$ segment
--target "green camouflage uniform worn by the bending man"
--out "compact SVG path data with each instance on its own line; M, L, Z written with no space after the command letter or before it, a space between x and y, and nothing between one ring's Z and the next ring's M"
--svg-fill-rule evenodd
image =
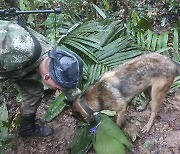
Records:
M37 111L43 96L43 84L41 76L37 73L37 68L42 59L47 56L47 52L53 49L53 45L44 36L32 29L29 30L39 40L42 53L34 64L21 68L21 64L24 64L34 51L33 40L29 32L19 26L16 21L0 20L0 79L13 82L20 92L22 96L22 115L33 114ZM1 72L1 70L8 72L14 69L16 71L11 75L8 73L4 75ZM70 92L67 92L67 97L70 100L73 100L79 94L76 89L70 90Z

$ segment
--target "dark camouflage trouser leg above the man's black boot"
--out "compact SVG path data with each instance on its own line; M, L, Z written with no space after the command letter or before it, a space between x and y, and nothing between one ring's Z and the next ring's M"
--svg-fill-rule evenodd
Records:
M42 82L38 80L16 81L15 87L22 97L21 114L35 114L42 101L44 91Z

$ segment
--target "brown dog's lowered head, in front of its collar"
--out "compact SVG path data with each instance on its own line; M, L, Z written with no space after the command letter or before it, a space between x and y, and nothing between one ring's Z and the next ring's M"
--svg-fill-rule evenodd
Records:
M89 108L83 96L74 101L73 115L87 123L94 121L94 111Z

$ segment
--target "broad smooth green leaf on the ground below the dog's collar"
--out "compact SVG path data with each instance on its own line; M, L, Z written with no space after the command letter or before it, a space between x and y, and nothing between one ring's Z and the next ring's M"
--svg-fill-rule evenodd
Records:
M131 143L120 128L106 115L96 117L97 128L93 137L93 146L97 154L126 154Z

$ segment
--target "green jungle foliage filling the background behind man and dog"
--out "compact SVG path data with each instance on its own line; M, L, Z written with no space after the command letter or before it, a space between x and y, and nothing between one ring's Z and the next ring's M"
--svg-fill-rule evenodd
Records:
M104 72L147 52L159 52L180 61L178 0L129 1L128 11L125 10L127 4L118 0L19 0L18 3L2 0L0 4L1 9L15 6L20 10L62 7L59 15L31 14L24 19L58 47L81 56L84 61L82 91ZM159 12L159 7L166 11ZM180 77L177 77L172 90L179 86ZM62 97L56 101L63 102ZM53 111L53 118L64 108L60 103L58 110L54 110L56 101L49 110ZM4 105L0 112L8 113ZM52 120L52 112L48 112L46 118ZM0 119L1 149L8 138L7 120L8 116Z

